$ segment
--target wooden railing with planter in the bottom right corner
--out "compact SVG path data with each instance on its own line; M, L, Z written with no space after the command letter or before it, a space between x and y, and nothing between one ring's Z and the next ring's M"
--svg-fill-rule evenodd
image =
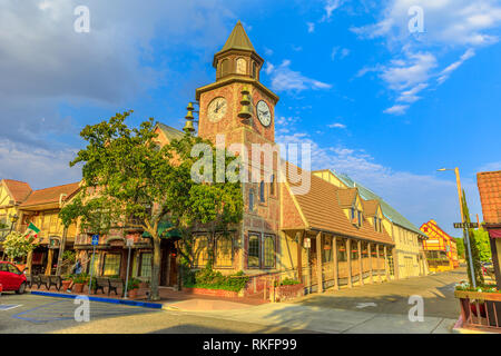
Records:
M463 327L501 333L501 293L455 290Z

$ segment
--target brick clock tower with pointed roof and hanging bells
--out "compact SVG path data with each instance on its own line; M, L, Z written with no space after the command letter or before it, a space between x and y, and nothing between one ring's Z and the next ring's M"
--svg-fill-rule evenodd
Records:
M242 182L244 219L233 237L233 268L248 274L273 273L281 264L276 179L279 157L269 148L275 147L278 97L259 81L263 65L264 59L238 21L223 49L214 56L216 81L196 90L198 136L213 142L216 136L224 136L226 147L242 144L248 151L249 181ZM272 151L272 165L264 165L261 154L258 162L253 161L255 144L262 145L261 150L265 147L263 151ZM258 167L257 180L250 177L253 166Z

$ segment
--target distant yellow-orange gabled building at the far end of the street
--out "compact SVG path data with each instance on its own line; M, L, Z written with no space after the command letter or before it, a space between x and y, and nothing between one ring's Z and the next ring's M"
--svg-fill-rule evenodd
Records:
M443 271L458 268L458 246L454 238L442 230L435 220L423 224L420 229L430 237L424 241L430 270Z

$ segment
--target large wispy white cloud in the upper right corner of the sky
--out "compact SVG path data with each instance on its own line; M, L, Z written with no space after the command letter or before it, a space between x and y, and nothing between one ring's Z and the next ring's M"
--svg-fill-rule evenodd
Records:
M409 14L413 6L424 14L424 33L411 33ZM443 83L475 49L495 43L501 30L501 3L499 0L392 0L376 13L376 22L352 28L363 38L383 38L393 56L387 65L366 66L358 77L376 71L385 85L396 93L396 102L385 110L402 115L411 103L421 99L416 92ZM461 58L444 69L440 58L451 51L464 50ZM415 92L413 92L415 91Z

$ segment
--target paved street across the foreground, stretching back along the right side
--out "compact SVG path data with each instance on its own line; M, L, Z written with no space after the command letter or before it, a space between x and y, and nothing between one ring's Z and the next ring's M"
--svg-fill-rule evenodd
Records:
M249 306L228 301L224 309L225 301L218 300L222 309L207 312L194 308L196 300L177 303L175 310L91 301L89 323L75 322L78 306L71 299L3 295L0 303L10 309L0 309L0 333L450 333L460 313L454 285L464 278L465 270L460 268L313 294L294 303ZM409 320L411 295L424 299L422 323Z

